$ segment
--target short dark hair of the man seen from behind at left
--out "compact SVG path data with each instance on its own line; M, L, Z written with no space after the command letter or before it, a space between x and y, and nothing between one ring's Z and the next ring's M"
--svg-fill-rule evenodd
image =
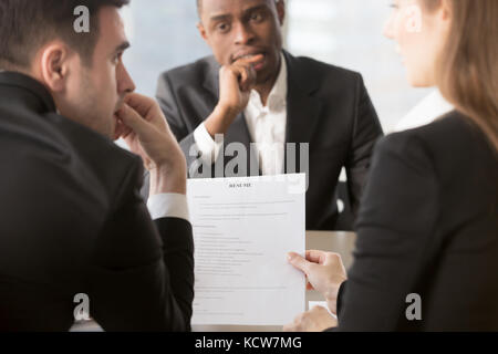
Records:
M30 66L37 51L61 39L87 65L98 39L98 10L122 8L129 0L0 0L0 69ZM90 11L90 32L76 33L74 9Z

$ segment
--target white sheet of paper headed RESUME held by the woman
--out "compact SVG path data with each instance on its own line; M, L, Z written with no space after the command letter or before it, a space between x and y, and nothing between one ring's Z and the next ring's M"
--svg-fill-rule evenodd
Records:
M194 325L283 325L305 311L305 175L189 179Z

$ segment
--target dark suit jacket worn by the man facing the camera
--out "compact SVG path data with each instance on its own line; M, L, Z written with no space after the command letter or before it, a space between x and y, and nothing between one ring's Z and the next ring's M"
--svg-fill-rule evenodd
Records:
M335 229L335 189L341 169L344 166L347 171L349 196L355 214L382 127L360 74L309 58L294 58L287 52L284 58L289 87L286 140L310 144L307 228ZM159 77L157 100L180 142L188 166L198 157L189 155L195 144L194 131L218 103L219 67L209 56ZM251 136L243 114L225 135L225 146L235 142L242 143L250 152ZM300 148L297 150L299 153ZM222 155L220 153L219 158ZM287 168L287 173L305 171L299 169L299 154L297 157L298 170ZM225 157L222 165L232 158ZM247 171L250 170L248 159Z

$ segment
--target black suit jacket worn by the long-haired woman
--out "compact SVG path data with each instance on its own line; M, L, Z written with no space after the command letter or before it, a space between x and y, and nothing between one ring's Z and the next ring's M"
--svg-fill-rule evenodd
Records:
M498 331L498 155L468 122L453 112L378 144L339 330Z

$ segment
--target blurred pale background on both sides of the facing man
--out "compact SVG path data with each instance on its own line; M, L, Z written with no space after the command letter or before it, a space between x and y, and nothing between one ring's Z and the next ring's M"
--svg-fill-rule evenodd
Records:
M292 54L362 73L384 129L392 132L430 91L408 86L394 43L382 34L388 4L287 0L284 34ZM154 96L159 73L210 54L196 28L195 0L135 0L123 17L132 42L124 61L141 93Z

